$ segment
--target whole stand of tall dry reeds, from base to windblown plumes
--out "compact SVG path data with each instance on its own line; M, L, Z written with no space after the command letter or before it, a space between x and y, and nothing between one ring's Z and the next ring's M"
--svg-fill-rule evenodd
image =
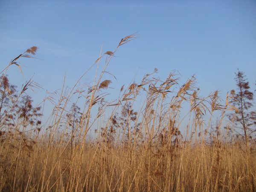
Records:
M6 76L36 50L1 72L0 191L255 191L255 123L245 140L234 91L225 99L218 91L201 97L194 76L181 86L175 71L160 80L155 69L105 101L115 78L104 79L116 52L108 51L93 64L93 84L79 86L81 77L69 91L49 93L44 102L52 103L52 113L41 122L41 107L26 94L38 84L29 80L18 93Z

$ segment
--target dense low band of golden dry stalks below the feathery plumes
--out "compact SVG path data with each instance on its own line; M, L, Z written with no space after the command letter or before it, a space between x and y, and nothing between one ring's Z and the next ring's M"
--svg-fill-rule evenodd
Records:
M70 160L58 145L24 148L18 161L12 145L3 147L1 190L12 191L14 177L20 191L251 191L255 185L244 151L237 146L153 150L86 143ZM251 175L254 162L253 154Z

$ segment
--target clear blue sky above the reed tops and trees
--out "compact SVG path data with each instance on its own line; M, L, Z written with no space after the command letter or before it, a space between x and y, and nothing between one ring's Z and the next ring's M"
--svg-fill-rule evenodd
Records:
M177 70L181 85L195 74L201 96L215 90L225 96L236 88L239 68L256 89L255 0L0 0L0 68L39 47L40 59L20 60L24 76L15 66L8 71L19 88L31 77L41 84L37 102L62 87L65 72L72 87L102 44L103 53L113 51L135 32L140 38L119 47L107 69L117 79L106 76L112 87L128 86L138 70L139 83L157 68L161 79Z

